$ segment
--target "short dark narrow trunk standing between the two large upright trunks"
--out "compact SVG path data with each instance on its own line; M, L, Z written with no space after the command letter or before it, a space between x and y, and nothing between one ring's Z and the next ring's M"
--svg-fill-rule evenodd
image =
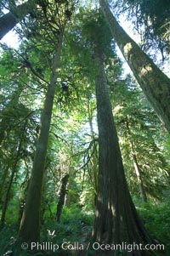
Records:
M63 179L61 180L61 188L59 191L59 202L57 205L57 213L56 213L57 222L60 221L61 211L65 204L65 195L67 191L66 186L68 183L68 179L69 179L69 174L66 174L65 177L63 177Z

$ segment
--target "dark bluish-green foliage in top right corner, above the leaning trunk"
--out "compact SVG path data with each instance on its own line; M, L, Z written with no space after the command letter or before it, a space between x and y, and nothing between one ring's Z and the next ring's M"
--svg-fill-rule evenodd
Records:
M126 4L127 3L127 4ZM155 48L160 49L162 60L169 48L169 12L170 3L168 0L132 0L124 1L122 9L128 7L130 19L134 19L135 28L142 29L142 44L144 50ZM143 29L143 28L144 29Z

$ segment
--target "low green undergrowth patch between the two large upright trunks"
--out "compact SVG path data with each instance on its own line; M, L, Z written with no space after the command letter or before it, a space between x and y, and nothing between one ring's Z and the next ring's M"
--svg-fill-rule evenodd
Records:
M71 205L70 208L63 208L60 222L56 220L47 219L42 229L42 242L52 241L61 245L63 242L81 242L83 236L83 226L87 226L89 235L92 231L94 223L94 213L83 213L82 209L77 203ZM54 232L54 237L51 238L48 230ZM90 236L89 236L90 239ZM56 254L61 253L62 249L57 251ZM71 252L65 251L65 255L70 255ZM47 254L48 255L48 254Z

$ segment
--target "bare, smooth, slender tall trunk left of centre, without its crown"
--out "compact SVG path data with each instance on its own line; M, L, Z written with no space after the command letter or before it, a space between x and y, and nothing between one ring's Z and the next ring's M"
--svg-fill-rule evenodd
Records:
M56 38L57 40L57 38ZM48 146L48 134L56 92L57 70L62 48L63 35L59 37L50 77L50 84L46 94L41 118L40 135L37 139L37 149L33 162L31 180L26 198L26 208L20 222L20 240L35 242L40 236L40 213L42 203L42 186L44 178L45 160Z

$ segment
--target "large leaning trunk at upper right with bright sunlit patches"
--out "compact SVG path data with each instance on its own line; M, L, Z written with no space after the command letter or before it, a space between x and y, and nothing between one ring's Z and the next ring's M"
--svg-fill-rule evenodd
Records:
M122 29L111 13L107 0L99 0L112 36L127 60L150 105L170 133L170 79L153 63L150 57Z

